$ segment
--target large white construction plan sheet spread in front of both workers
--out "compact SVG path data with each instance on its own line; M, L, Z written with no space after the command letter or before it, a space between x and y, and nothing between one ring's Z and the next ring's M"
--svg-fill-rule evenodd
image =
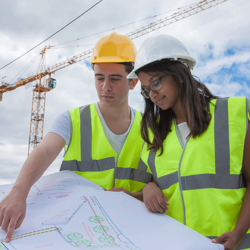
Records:
M0 186L0 200L10 188ZM0 229L0 250L224 249L169 216L148 212L129 195L104 191L70 171L35 183L22 226L9 243L5 235Z

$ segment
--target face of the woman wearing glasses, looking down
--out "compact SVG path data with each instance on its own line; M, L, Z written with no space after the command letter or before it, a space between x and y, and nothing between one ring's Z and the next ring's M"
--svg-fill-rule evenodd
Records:
M142 88L149 91L149 97L155 105L160 107L162 110L169 108L174 110L177 102L179 101L180 89L172 76L164 76L164 73L162 72L140 72L138 77ZM157 81L159 78L161 78L160 82ZM162 85L160 90L156 91L151 89L159 88L159 84Z

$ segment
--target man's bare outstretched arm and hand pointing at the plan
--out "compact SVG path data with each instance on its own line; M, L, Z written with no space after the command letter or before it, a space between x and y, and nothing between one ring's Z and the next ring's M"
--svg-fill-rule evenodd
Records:
M64 139L48 133L25 161L10 193L0 203L0 227L9 242L20 227L26 213L26 198L32 185L42 176L65 145Z

